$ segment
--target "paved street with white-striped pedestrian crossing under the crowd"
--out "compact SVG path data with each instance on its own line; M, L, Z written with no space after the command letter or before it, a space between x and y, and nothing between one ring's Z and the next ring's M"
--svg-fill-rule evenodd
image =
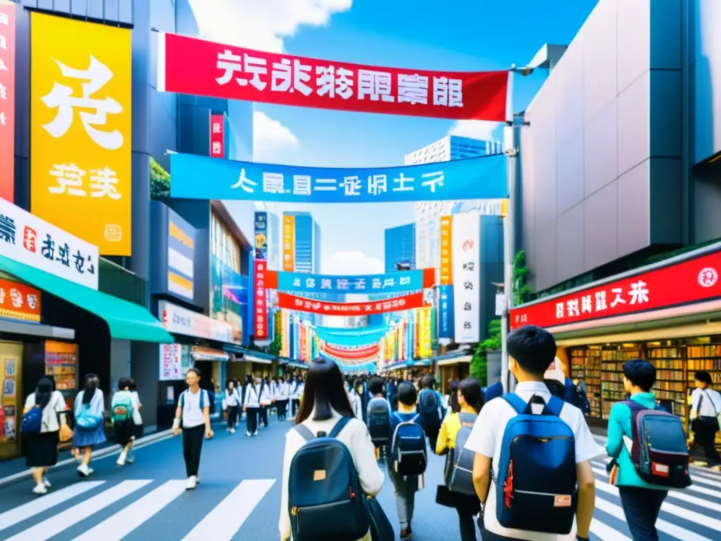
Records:
M30 492L30 481L0 489L0 540L278 540L278 506L283 436L290 423L271 423L247 439L218 431L206 442L201 483L185 492L180 439L151 444L137 462L115 467L114 458L94 462L95 474L80 480L67 467L51 471L46 496ZM595 463L596 520L593 537L627 541L629 532L616 489L607 483L603 462ZM426 488L417 496L416 541L458 540L455 512L435 504L443 457L431 457ZM658 522L662 540L718 540L721 532L721 475L694 468L694 485L671 494ZM392 487L379 496L396 522Z

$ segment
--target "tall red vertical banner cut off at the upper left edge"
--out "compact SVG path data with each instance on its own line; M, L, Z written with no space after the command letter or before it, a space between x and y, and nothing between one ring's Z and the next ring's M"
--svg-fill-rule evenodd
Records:
M0 0L0 198L15 197L15 4Z

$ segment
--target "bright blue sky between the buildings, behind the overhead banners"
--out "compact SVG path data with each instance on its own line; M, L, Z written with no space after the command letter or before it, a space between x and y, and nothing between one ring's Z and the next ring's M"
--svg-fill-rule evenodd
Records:
M231 24L222 17L203 17L196 8L201 32L213 40L298 56L446 71L523 66L544 43L570 43L596 5L596 0L192 1L196 6L203 2L203 11L216 15L217 9L234 12L227 18ZM244 21L241 27L238 20ZM543 74L516 77L515 110L528 105L543 79ZM256 123L255 161L318 167L399 165L404 154L456 127L452 120L278 105L256 104L255 110L262 121L261 126ZM267 138L259 128L267 128L262 131L270 132ZM461 128L492 132L485 125ZM492 136L502 139L500 131ZM292 209L314 214L323 230L324 266L333 271L337 260L344 259L338 252L361 252L382 262L384 229L414 219L410 203ZM356 261L357 256L345 259ZM330 260L335 263L326 264Z

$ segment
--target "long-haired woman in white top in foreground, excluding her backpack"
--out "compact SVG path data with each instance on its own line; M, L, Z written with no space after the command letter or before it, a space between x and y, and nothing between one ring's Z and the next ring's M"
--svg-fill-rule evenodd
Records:
M368 428L363 421L355 418L348 402L348 393L343 386L340 369L333 361L316 359L306 374L307 387L301 400L301 410L296 424L302 424L313 434L330 432L342 417L352 418L337 435L337 440L348 447L353 464L358 470L363 492L376 496L383 486L384 476L376 461L376 449L373 447ZM288 513L288 479L291 462L306 440L296 430L286 434L286 452L283 456L283 492L280 498L280 539L291 539L291 516ZM363 541L370 541L370 532Z

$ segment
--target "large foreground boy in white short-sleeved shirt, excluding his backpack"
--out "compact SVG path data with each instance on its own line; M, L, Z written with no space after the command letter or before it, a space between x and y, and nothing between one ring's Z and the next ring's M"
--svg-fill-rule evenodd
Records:
M544 384L544 373L556 356L556 341L547 330L528 325L508 335L508 369L518 380L515 394L528 403L531 397L542 399L548 404L551 393ZM544 405L532 406L533 413L540 413ZM483 504L484 513L481 534L483 541L533 540L557 541L562 536L525 529L510 529L500 525L497 518L496 487L492 483L499 472L499 459L503 433L512 418L518 413L503 397L487 403L474 423L473 431L466 441L466 449L476 453L473 465L473 482L476 493ZM576 477L578 504L576 508L576 539L588 540L593 509L596 506L596 480L590 459L605 454L593 439L581 410L564 403L559 418L571 429L575 439Z

